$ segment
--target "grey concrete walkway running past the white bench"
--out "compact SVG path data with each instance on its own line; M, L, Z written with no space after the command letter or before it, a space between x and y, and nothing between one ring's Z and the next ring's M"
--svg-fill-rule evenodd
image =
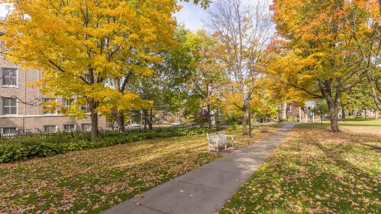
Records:
M102 213L216 213L277 149L295 124L286 123L258 143L238 149Z

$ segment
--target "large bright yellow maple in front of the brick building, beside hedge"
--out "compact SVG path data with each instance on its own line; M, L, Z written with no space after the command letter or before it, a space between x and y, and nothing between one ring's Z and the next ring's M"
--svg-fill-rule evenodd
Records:
M47 96L75 97L66 115L85 117L78 106L88 104L92 141L97 140L100 112L128 108L137 98L107 82L130 70L145 72L147 67L137 68L135 62L155 61L152 51L171 39L176 25L174 1L2 2L13 5L0 24L8 58L42 70L37 86Z

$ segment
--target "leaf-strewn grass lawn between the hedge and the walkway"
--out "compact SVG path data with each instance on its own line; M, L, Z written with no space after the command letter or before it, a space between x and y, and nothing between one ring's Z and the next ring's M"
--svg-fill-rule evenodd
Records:
M272 125L270 132L274 131ZM242 130L235 146L252 141ZM98 213L215 160L205 134L119 144L0 164L0 213Z

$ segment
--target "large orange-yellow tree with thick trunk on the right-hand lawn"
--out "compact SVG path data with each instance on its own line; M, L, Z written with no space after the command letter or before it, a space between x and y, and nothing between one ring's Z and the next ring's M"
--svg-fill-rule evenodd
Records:
M274 63L289 87L310 98L324 98L332 132L339 132L341 95L362 81L358 56L345 17L344 1L275 0L272 5L277 32L286 39L283 57Z

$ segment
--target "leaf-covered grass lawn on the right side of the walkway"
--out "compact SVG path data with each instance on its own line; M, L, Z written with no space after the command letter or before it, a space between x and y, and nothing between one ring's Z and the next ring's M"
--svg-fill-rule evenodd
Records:
M220 213L381 213L381 120L297 125Z

